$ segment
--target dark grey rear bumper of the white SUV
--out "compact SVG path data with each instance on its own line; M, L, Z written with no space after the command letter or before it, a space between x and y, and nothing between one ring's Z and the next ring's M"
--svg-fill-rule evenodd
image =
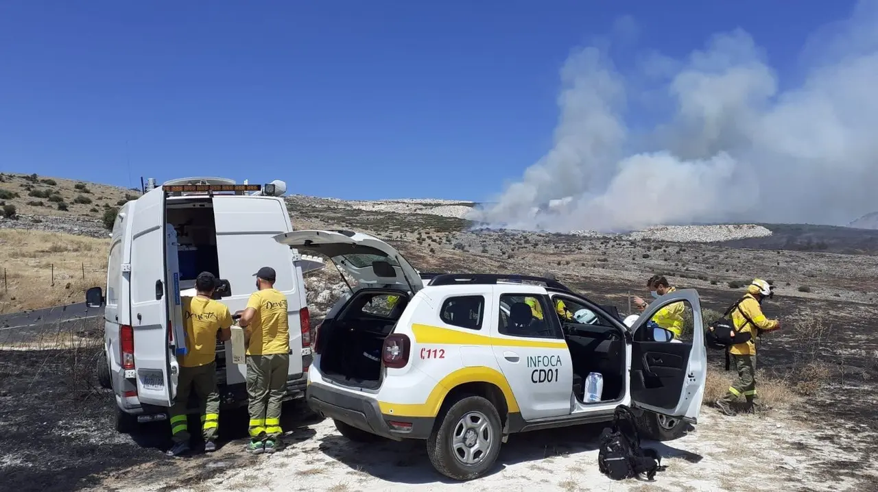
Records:
M397 417L384 415L378 401L368 396L353 395L320 383L312 382L307 387L306 402L311 410L323 417L340 420L361 431L393 439L427 439L433 431L432 417ZM411 424L411 429L400 431L389 422Z

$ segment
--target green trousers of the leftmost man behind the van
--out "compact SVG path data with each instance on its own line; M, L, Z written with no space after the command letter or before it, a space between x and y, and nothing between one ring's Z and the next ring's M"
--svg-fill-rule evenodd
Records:
M217 391L216 363L198 367L180 367L176 383L174 406L170 408L170 429L174 442L188 442L186 407L189 395L195 391L201 407L201 429L205 441L216 439L219 430L219 392Z

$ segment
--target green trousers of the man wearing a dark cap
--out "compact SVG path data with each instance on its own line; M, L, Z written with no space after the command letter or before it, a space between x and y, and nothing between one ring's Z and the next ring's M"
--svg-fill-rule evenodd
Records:
M289 368L288 353L247 356L250 439L277 439L284 433L280 427L280 409Z

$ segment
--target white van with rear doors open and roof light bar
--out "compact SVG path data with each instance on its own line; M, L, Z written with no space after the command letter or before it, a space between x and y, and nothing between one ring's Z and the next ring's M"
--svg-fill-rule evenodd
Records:
M275 269L275 288L289 305L291 353L301 353L290 360L287 398L304 396L311 332L302 272L303 265L308 269L315 263L301 261L296 250L273 239L292 231L280 197L285 188L278 181L263 187L224 178L184 178L149 189L119 210L106 294L99 287L86 293L89 307L105 306L106 358L98 379L116 394L117 430L167 418L176 396L176 353L183 345L175 337L182 321L177 303L202 271L221 280L215 298L234 313L246 307L255 291L256 270ZM231 342L218 342L217 381L224 408L247 403L246 366L232 364L231 353Z

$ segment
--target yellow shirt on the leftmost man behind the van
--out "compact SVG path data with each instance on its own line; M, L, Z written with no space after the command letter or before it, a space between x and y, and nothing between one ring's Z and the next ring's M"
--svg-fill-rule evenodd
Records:
M232 325L232 313L225 305L205 297L185 296L181 300L188 353L181 358L180 365L210 364L216 358L217 332Z

